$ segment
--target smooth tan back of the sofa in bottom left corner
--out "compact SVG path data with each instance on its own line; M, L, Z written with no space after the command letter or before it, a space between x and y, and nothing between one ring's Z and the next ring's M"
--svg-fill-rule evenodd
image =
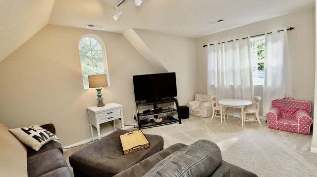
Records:
M27 176L26 147L1 123L0 158L0 177Z

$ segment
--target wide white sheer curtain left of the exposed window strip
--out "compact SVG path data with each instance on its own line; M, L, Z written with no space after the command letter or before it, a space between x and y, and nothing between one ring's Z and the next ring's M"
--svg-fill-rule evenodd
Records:
M252 100L252 64L250 38L208 45L208 88L209 95L221 99Z

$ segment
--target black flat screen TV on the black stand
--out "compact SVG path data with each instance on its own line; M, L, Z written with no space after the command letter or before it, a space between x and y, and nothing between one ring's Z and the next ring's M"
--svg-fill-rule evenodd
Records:
M175 72L133 75L135 101L157 101L177 97Z

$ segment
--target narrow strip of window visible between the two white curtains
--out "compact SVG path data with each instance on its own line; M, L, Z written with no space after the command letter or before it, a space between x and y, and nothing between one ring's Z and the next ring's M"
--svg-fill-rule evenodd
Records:
M251 38L251 60L253 85L264 85L264 57L265 57L265 37Z

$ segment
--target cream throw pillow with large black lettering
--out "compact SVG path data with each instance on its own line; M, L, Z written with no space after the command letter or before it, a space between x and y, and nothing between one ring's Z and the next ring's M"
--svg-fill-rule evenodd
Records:
M23 144L38 151L44 144L58 138L48 130L45 130L39 125L30 127L22 127L9 129L9 131Z

